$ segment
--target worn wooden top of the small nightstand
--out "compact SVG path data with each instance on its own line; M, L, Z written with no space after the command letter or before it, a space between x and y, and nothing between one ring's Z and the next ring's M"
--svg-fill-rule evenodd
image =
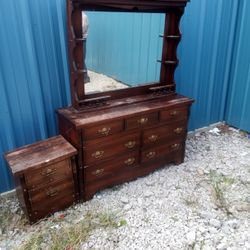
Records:
M76 154L77 150L62 136L55 136L7 152L5 159L12 173L17 174L29 168L48 165Z

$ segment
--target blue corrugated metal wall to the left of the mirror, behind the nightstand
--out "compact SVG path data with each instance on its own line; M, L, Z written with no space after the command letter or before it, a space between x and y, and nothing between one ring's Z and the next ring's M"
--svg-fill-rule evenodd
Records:
M65 1L0 3L0 192L12 187L2 152L57 133L69 103Z

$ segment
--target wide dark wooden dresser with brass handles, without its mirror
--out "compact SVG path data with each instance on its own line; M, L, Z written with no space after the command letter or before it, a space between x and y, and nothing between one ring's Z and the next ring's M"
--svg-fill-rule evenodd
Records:
M182 163L191 103L176 95L92 112L58 110L60 133L78 150L81 197Z

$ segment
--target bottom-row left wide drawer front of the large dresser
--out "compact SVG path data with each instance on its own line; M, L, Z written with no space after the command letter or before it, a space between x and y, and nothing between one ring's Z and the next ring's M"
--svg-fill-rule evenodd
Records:
M97 165L92 165L84 169L85 183L90 183L100 179L110 178L117 172L133 168L139 163L139 152L130 153L125 156L105 161Z

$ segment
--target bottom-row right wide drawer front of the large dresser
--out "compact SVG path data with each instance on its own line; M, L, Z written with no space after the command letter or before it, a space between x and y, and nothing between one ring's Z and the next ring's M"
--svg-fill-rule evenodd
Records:
M148 150L143 150L141 155L141 162L151 161L161 158L164 155L182 149L182 141L174 141L168 145L162 145Z

